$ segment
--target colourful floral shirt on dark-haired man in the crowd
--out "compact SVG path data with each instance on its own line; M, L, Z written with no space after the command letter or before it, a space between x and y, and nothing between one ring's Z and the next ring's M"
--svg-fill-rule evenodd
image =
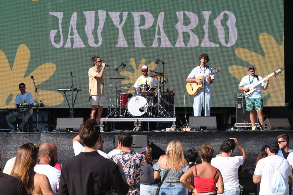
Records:
M120 151L120 153L112 156L112 160L119 166L121 163L127 183L129 185L129 195L139 194L140 177L143 166L143 156L140 153L131 151ZM120 166L121 166L120 165ZM116 194L114 190L111 194Z

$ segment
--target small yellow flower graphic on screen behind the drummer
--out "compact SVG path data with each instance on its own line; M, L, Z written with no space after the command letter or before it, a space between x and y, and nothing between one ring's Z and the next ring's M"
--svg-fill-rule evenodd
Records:
M131 73L127 70L122 70L121 71L121 75L124 76L124 77L128 77L129 79L124 79L122 81L122 84L125 84L125 85L130 85L130 86L133 86L135 81L137 80L138 77L140 77L142 75L142 66L145 65L146 63L146 59L145 58L142 58L142 60L140 61L139 63L139 66L137 67L135 61L133 58L130 58L129 59L129 62L130 62L130 65L133 67L134 69L134 73ZM149 70L154 70L156 67L157 67L157 64L154 63L154 61L152 61L151 63L149 63L149 65L147 65ZM132 91L129 91L130 93Z

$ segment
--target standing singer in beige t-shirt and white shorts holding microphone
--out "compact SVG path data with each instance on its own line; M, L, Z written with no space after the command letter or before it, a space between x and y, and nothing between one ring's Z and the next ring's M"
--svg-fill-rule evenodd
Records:
M93 67L88 70L88 88L91 98L91 118L96 119L100 124L103 107L105 105L105 89L103 73L105 71L105 63L99 56L91 57ZM100 70L100 67L101 70ZM108 66L109 67L109 66ZM98 108L98 113L96 113Z

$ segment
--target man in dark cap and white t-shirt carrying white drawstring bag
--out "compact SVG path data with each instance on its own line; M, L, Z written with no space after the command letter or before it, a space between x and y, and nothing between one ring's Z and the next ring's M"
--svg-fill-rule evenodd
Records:
M290 166L285 158L277 156L279 151L277 139L267 139L264 147L268 156L258 161L252 177L255 184L260 182L259 195L270 194L269 190L273 189L271 182L277 170L281 173L281 179L283 180L282 182L285 183L285 186L282 186L282 182L278 182L279 184L274 187L278 187L281 190L285 189L282 194L289 195L289 184L287 179L290 174Z

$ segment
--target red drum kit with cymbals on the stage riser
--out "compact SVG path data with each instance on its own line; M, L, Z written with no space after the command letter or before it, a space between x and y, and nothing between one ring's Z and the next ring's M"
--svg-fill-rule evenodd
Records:
M120 89L124 89L124 91L121 92L120 89L117 90L115 108L112 108L112 85L115 82L111 84L108 87L110 89L110 104L106 117L171 117L173 113L167 112L162 106L163 100L160 95L162 93L161 87L163 87L160 84L162 83L161 79L163 79L164 75L155 74L150 77L156 79L156 86L151 87L149 84L141 84L138 89L130 86L120 86ZM113 77L110 79L116 79L117 82L118 79L124 78ZM130 93L130 90L136 91L136 94Z

